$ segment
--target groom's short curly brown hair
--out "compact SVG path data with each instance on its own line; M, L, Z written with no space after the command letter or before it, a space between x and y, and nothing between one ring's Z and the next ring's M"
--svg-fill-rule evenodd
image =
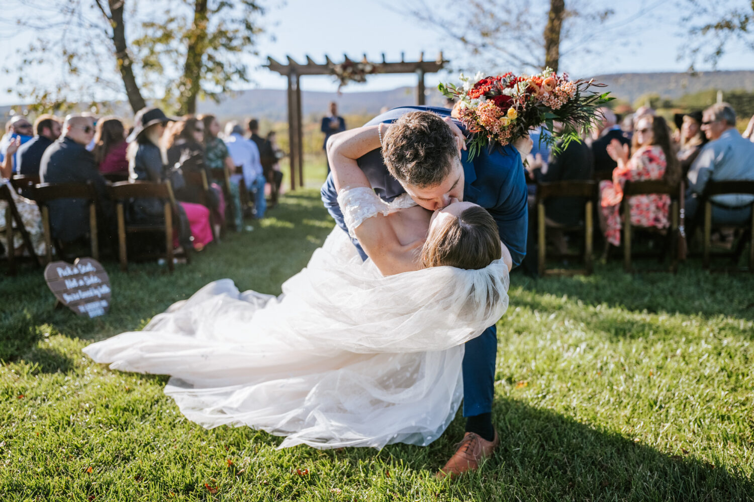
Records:
M450 126L431 111L411 111L385 131L382 158L401 184L434 187L450 173L458 147Z

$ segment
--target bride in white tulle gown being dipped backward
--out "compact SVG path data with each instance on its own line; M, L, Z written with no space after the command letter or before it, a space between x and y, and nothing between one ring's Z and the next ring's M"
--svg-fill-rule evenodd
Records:
M328 156L368 260L336 227L279 297L214 281L84 352L170 375L165 393L190 420L268 431L280 448L437 439L463 397L464 342L507 309L510 254L478 205L382 201L357 166L360 130L333 136Z

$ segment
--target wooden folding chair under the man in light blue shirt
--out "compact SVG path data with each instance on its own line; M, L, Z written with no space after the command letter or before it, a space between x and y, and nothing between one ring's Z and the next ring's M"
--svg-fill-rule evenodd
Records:
M704 187L704 193L701 202L704 205L704 251L703 251L703 268L710 269L710 256L712 255L712 206L710 199L714 195L723 195L728 193L743 193L754 195L754 181L708 181ZM739 228L743 229L736 249L732 253L716 253L716 256L728 256L738 263L743 246L749 241L749 272L754 273L754 202L751 203L752 217L749 222ZM722 227L735 227L735 225L724 224ZM738 270L724 269L725 271Z

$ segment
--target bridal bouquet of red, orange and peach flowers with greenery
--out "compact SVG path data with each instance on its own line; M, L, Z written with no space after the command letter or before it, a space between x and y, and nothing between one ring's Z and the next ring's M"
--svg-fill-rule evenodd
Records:
M605 87L592 80L571 81L568 74L557 75L550 68L537 75L513 75L510 71L495 77L483 77L480 71L474 78L461 73L461 85L440 84L438 88L448 98L458 99L458 118L472 134L469 160L489 144L507 145L529 129L544 126L550 135L540 135L540 141L558 151L556 142L581 141L580 133L592 126L596 108L611 101L609 93L593 88ZM553 121L562 123L556 134Z

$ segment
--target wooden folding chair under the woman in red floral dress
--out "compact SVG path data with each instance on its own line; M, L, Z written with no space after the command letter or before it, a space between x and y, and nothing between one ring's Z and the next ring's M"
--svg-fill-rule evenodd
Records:
M642 230L648 230L651 233L661 234L661 231L655 227L633 227L631 225L631 206L630 198L636 195L668 195L670 196L670 229L664 235L664 248L661 249L658 258L663 260L665 255L670 253L670 272L678 272L678 226L679 226L679 197L683 196L682 189L679 185L667 184L664 180L642 180L642 181L626 181L623 187L623 257L624 257L624 269L626 272L632 272L633 266L631 264L631 239L633 230L636 228ZM645 270L645 272L653 272L652 270Z

